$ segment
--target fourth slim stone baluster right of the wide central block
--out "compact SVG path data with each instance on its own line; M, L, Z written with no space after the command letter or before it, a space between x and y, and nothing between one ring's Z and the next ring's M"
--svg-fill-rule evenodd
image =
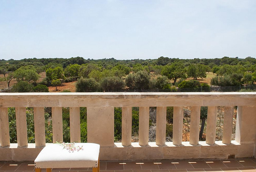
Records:
M173 107L173 144L182 144L183 107Z

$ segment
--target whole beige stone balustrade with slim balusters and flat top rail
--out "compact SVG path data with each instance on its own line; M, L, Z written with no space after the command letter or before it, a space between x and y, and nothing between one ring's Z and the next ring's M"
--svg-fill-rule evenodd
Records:
M182 142L183 107L191 107L190 140ZM208 106L206 141L200 107ZM217 107L225 106L223 140L215 141ZM234 106L236 137L232 138ZM8 108L15 107L17 143L10 143ZM34 108L35 143L28 143L26 107ZM63 141L62 107L70 108L70 140L80 142L80 107L87 107L88 142L101 160L152 160L255 155L256 93L0 93L0 161L34 160L45 143L44 107L52 108L53 142ZM122 107L122 142L114 142L114 107ZM139 142L131 142L132 107L139 107ZM149 107L157 107L156 142L149 142ZM166 142L166 107L174 107L173 142Z

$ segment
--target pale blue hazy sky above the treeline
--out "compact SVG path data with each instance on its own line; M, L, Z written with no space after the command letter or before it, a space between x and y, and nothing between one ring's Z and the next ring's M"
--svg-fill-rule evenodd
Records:
M0 59L256 57L255 0L0 0Z

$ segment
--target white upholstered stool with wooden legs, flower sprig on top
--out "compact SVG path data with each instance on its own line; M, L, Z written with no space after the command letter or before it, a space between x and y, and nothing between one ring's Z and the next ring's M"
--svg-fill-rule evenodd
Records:
M59 144L45 146L35 159L36 172L46 168L51 172L52 168L82 168L92 167L93 172L99 172L100 145L95 143L75 143L83 146L83 150L69 151Z

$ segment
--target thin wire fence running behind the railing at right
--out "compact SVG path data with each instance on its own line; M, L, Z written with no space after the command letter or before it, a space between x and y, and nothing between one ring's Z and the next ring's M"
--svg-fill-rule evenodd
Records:
M239 85L239 86L211 86L200 88L176 88L176 89L147 89L147 90L122 90L109 92L238 92L241 89L256 90L256 85Z

